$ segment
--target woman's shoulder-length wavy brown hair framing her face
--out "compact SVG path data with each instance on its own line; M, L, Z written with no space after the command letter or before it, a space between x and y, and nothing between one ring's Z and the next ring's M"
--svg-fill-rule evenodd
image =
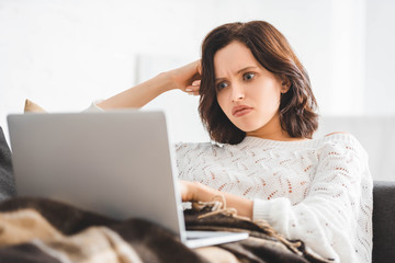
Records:
M267 70L289 79L291 87L280 99L281 127L293 138L312 138L318 128L318 115L307 71L286 38L264 21L224 24L203 41L199 113L210 137L230 145L246 137L246 133L228 119L216 98L214 55L234 41L245 44Z

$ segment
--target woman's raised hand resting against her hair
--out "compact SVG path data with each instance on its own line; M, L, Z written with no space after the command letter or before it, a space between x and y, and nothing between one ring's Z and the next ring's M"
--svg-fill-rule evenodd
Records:
M168 71L173 89L182 90L191 95L199 95L202 66L201 60Z

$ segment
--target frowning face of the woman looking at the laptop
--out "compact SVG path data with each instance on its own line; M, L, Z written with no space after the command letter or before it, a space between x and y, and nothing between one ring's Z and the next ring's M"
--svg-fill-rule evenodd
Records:
M283 133L278 115L289 84L263 68L250 49L232 42L214 56L217 101L230 122L249 136Z

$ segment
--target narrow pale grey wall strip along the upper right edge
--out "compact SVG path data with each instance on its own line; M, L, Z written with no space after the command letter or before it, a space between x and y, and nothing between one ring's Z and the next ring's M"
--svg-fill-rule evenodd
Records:
M391 115L395 113L395 1L369 0L366 10L364 104L371 114Z

